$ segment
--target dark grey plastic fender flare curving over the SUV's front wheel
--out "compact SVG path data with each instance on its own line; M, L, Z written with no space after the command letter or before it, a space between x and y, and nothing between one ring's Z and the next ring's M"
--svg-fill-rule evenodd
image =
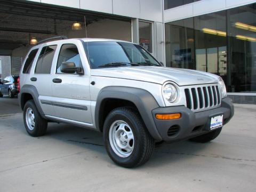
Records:
M133 88L133 87L123 87L123 86L108 86L104 87L98 94L96 106L95 106L95 125L98 130L101 130L102 125L102 114L101 105L107 99L123 99L134 103L138 108L139 113L145 123L149 133L155 140L162 140L159 135L156 124L153 119L152 110L158 108L159 105L153 95L148 91Z

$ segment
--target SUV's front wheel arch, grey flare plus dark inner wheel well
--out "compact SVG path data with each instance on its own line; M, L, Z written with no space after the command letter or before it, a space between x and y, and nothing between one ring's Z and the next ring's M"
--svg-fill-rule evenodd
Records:
M158 108L159 105L153 95L146 90L124 87L124 86L108 86L104 87L98 94L95 106L95 126L101 132L103 131L103 123L110 109L122 106L133 106L137 108L147 130L155 140L162 140L159 135L153 119L151 111Z

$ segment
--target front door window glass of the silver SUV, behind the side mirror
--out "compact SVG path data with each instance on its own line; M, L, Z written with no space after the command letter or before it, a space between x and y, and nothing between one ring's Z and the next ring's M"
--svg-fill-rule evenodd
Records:
M74 62L76 67L82 67L82 61L76 45L64 44L61 46L57 62L57 73L62 73L60 71L60 66L63 62Z

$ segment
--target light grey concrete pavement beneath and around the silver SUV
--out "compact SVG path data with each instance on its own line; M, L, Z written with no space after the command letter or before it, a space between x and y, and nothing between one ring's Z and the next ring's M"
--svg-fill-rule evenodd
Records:
M256 191L256 106L235 116L209 143L158 146L136 169L115 165L102 134L50 123L29 137L22 114L0 116L0 191Z

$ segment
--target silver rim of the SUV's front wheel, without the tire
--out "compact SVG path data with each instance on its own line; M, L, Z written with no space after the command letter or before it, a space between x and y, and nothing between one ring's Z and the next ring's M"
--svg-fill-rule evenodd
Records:
M134 149L134 135L131 127L124 121L118 120L111 124L109 142L115 154L119 157L129 157Z

